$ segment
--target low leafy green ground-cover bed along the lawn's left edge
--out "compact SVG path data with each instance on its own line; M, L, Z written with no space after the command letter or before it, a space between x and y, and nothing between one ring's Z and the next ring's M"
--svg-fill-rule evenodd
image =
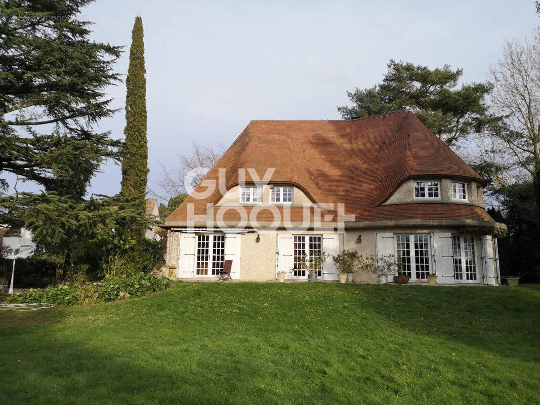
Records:
M172 284L171 280L151 274L89 282L83 285L64 284L57 287L31 289L8 298L12 303L46 302L56 305L73 305L81 302L107 302L136 298L162 291Z

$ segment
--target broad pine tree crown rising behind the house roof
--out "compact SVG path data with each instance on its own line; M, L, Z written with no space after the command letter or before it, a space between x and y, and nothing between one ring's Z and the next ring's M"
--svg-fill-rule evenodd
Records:
M485 102L492 85L486 82L457 87L462 75L462 69L451 70L449 65L429 69L390 60L382 83L347 92L353 106L341 106L338 111L343 119L350 119L410 110L447 145L456 145L496 119Z

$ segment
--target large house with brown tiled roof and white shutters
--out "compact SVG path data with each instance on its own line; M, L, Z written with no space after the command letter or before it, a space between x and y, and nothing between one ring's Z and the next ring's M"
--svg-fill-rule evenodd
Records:
M408 111L255 120L166 218L167 265L179 279L214 279L230 259L233 279L304 280L303 254L354 249L401 258L411 282L495 285L506 227L485 211L485 185ZM318 271L337 273L331 259Z

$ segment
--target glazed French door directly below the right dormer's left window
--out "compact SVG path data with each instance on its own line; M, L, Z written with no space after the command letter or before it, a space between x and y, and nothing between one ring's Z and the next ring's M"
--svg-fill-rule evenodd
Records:
M411 280L428 278L430 269L428 235L396 235L396 253L404 275L408 275Z

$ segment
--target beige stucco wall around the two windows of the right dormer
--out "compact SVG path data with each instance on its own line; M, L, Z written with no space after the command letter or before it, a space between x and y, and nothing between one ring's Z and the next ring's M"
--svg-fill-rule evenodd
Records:
M415 180L429 180L429 179L409 179L404 181L397 190L390 196L390 198L384 203L386 204L403 204L403 203L462 203L481 205L482 202L482 187L478 187L476 181L467 182L467 194L468 201L456 201L452 199L452 179L438 179L441 181L441 199L439 200L421 200L414 198L414 181ZM437 180L437 179L433 179ZM481 201L481 204L478 201Z

